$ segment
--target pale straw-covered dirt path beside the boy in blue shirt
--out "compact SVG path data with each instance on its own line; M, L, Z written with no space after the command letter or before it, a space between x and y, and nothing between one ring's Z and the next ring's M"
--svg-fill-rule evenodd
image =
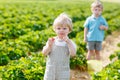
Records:
M103 62L103 67L107 66L111 61L109 56L116 50L120 50L117 44L120 43L120 32L114 32L112 35L107 36L103 41L103 49L101 51L101 60ZM90 74L85 71L81 72L78 69L71 70L71 80L91 80Z

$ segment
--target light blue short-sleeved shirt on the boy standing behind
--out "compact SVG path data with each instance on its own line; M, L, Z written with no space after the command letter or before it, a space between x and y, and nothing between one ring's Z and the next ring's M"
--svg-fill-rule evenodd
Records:
M103 41L104 30L100 30L100 25L108 27L106 20L102 16L95 18L92 15L87 18L84 23L84 27L88 28L87 41Z

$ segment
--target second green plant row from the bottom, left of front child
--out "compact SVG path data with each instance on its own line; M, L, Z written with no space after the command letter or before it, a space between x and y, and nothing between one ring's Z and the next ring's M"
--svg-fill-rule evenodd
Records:
M49 31L51 31L51 34L49 34ZM20 36L15 40L9 39L0 42L0 65L6 65L10 60L17 60L27 56L29 52L42 49L48 37L54 35L52 29L49 31L30 32L28 35Z

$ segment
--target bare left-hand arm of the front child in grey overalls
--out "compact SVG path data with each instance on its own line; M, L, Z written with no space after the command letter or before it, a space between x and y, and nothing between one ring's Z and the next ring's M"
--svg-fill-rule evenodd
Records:
M52 49L52 45L54 42L54 38L49 38L46 45L43 47L42 53L46 56L50 53Z

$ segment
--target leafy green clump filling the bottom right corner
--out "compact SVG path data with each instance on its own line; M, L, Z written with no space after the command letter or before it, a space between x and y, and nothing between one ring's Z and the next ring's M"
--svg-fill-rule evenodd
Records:
M119 80L120 79L120 60L108 65L104 70L92 75L92 80Z

